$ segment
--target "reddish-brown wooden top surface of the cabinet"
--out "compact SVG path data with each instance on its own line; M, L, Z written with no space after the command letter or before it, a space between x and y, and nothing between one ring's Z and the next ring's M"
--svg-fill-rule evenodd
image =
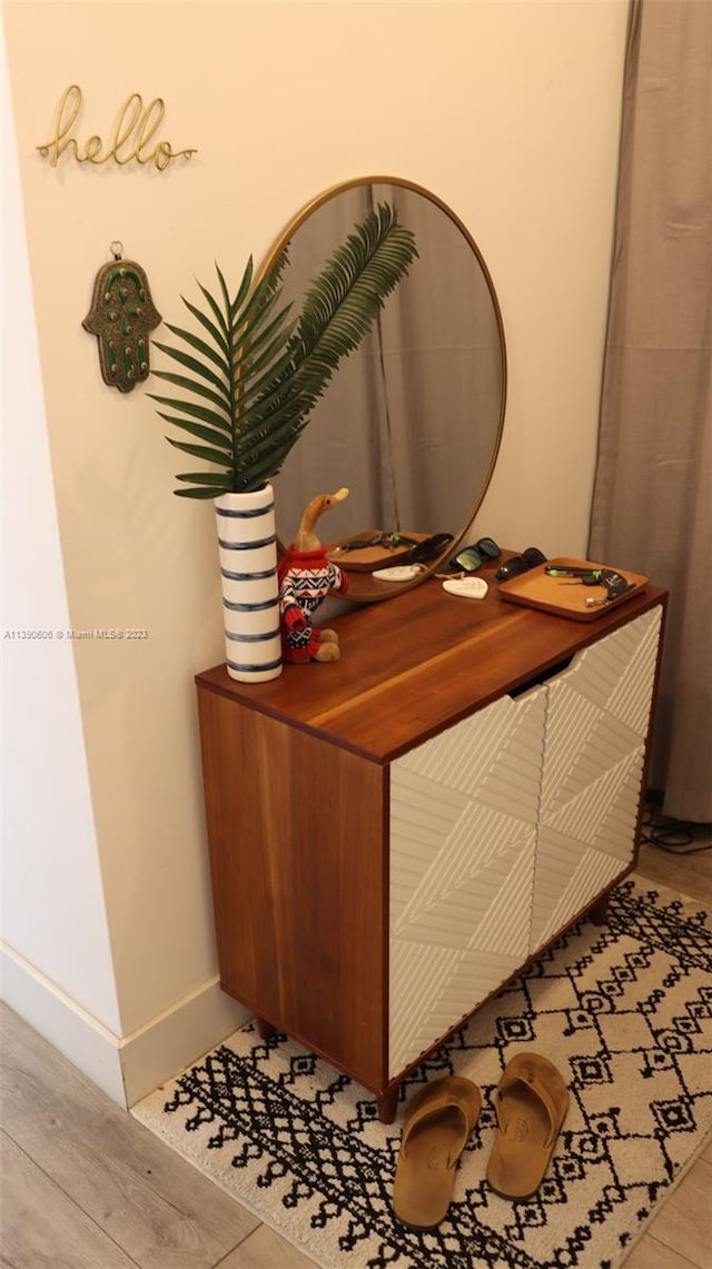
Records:
M484 575L491 580L491 572ZM195 683L387 763L665 600L665 591L647 586L595 621L576 622L505 603L494 581L484 600L473 600L432 579L330 619L340 661L286 665L278 679L259 684L237 683L221 664Z

